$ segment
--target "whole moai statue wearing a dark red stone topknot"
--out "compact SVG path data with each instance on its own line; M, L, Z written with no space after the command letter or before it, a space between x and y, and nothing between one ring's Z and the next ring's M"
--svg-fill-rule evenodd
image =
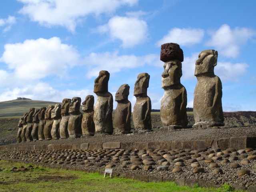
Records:
M176 43L162 44L160 60L164 62L161 85L164 96L160 108L162 124L169 129L187 128L187 92L180 83L183 51Z

